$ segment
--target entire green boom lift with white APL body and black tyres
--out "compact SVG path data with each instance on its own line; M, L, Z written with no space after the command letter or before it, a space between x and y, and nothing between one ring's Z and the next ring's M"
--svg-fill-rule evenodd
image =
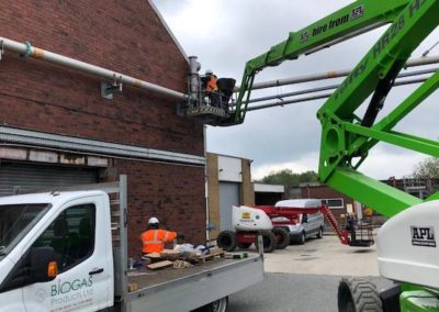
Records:
M380 232L383 234L380 235L384 243L380 245L379 235L378 247L381 272L399 283L381 293L380 298L365 281L342 279L338 294L340 311L439 311L439 252L434 235L435 230L439 233L439 222L428 222L427 215L424 214L416 219L419 212L430 211L428 202L438 200L439 192L423 201L357 171L368 152L378 142L439 157L438 142L393 131L402 119L438 88L438 71L389 115L375 122L396 76L404 68L410 54L438 23L438 0L356 1L299 32L290 33L285 41L247 62L236 104L230 112L214 120L214 124L223 126L244 122L255 76L266 67L278 66L284 60L296 59L301 55L315 53L390 24L317 112L322 123L318 169L320 180L386 216L397 214L387 221L391 224L387 227L394 233L382 229ZM356 110L370 96L372 97L364 115L356 115ZM414 215L408 215L408 212L404 214L403 211L413 210L414 205L421 208L415 207L417 212L415 211ZM439 220L439 201L435 207L431 208L432 216ZM398 218L399 214L403 216ZM413 220L417 220L417 223ZM423 227L423 224L426 226ZM386 238L396 234L401 236ZM407 246L403 244L396 248L404 249L406 254L420 255L420 258L412 259L409 255L403 254L398 259L397 256L385 252L397 245L396 241L403 239L404 235L408 235L407 239L410 242ZM395 243L392 245L389 239L394 239ZM383 254L381 258L380 249ZM425 279L416 278L417 270ZM430 276L435 276L432 280Z

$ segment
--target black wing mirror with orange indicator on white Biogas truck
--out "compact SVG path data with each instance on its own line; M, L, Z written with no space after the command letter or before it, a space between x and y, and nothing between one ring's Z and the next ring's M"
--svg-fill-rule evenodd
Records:
M50 281L58 275L56 253L52 247L34 247L31 249L30 276L34 282Z

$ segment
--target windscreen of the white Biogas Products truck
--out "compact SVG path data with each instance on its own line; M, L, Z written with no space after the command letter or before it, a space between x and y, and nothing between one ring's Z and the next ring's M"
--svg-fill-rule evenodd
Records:
M50 204L0 205L0 260L24 237L48 211Z

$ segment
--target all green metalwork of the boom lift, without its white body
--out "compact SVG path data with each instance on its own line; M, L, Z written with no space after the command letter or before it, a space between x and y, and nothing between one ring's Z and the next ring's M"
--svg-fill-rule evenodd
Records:
M244 122L258 71L384 24L390 24L385 33L317 112L322 124L318 174L322 182L386 216L393 216L423 200L367 177L358 168L379 142L439 157L437 141L393 130L438 89L438 71L375 122L395 77L412 53L438 26L439 0L356 1L299 32L290 33L285 41L247 62L235 109L222 125ZM369 97L371 100L364 116L356 115ZM426 200L435 199L439 199L439 192ZM421 286L404 283L401 309L439 311L438 293Z

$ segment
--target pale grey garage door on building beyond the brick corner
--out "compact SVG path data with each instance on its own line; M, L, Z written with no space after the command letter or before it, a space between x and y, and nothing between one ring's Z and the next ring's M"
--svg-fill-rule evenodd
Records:
M232 207L239 204L239 183L219 182L221 231L233 230Z

